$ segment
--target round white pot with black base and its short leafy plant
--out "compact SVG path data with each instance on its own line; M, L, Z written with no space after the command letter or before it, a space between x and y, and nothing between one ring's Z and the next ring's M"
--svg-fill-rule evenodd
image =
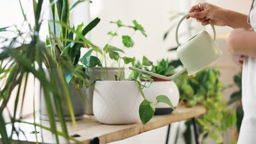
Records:
M143 57L144 59L147 59L146 57ZM165 76L171 76L174 74L175 67L172 65L173 62L169 61L168 59L162 59L160 62L157 63L157 65L153 65L152 62L150 62L150 66L143 67L147 71L151 71L155 74L165 75ZM139 64L136 65L138 67ZM151 67L149 69L149 67ZM141 66L139 66L141 68ZM155 95L166 95L172 102L173 106L178 106L179 103L179 90L172 80L163 80L159 79L158 77L151 77L154 82L150 85L150 87L146 87L143 89L143 93L146 95L146 97L150 100L156 103ZM141 76L140 80L142 81L143 85L149 86L149 82L144 80L144 77ZM157 90L156 90L157 89ZM156 105L155 109L155 115L164 115L167 113L171 113L173 111L172 107L168 106L165 103L159 103Z

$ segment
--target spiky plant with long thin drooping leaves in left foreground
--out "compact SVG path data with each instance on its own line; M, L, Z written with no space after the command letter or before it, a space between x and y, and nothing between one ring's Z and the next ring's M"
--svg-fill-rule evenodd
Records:
M62 2L66 3L66 6L68 5L69 8L69 1L63 0ZM64 101L67 101L65 107L68 107L71 119L75 124L71 95L63 73L65 70L75 71L75 68L71 59L68 57L55 57L53 55L52 52L57 52L59 47L52 45L51 49L49 48L48 41L52 39L49 38L46 40L46 43L40 40L38 33L42 25L42 17L40 17L43 13L42 4L43 0L33 1L34 25L31 25L31 23L27 21L26 13L20 2L21 12L24 16L24 23L26 23L26 25L22 25L22 28L16 26L0 28L1 33L14 33L13 38L4 38L3 41L1 40L1 44L3 44L0 53L0 80L2 83L0 93L0 125L2 143L13 143L13 135L19 134L18 131L20 131L20 129L16 127L19 123L34 125L34 133L36 134L36 137L37 129L40 127L51 131L55 136L56 143L60 143L59 135L63 136L67 143L69 143L69 140L81 143L69 136L65 115L63 113L64 107L62 105ZM56 2L51 6L55 8L55 4ZM68 10L63 10L62 12L62 14L67 14L66 12L68 12ZM64 16L64 18L65 17L66 16ZM24 29L27 29L27 31L24 31ZM61 41L63 38L54 39L56 39L56 41ZM86 43L85 41L82 42ZM49 69L45 71L45 67L48 67ZM34 77L33 81L36 81L36 79L39 80L41 88L43 89L44 95L42 95L42 97L45 99L45 107L50 123L49 127L43 127L36 123L35 102L31 106L34 121L25 122L22 120L22 107L24 106L24 100L27 97L26 90L28 87L31 89L34 88L33 86L28 85L28 79L30 79L29 75ZM77 76L80 77L81 75L77 74ZM16 88L18 88L18 91L16 91ZM7 109L11 95L15 99L14 110L8 110L8 115L5 115L4 117L3 110ZM53 97L51 97L51 95L53 95ZM35 97L36 95L33 95L31 100L34 101ZM51 98L53 98L53 100ZM55 110L61 123L58 126L56 124ZM6 118L9 118L10 122L5 121ZM61 128L61 132L57 131L57 127Z

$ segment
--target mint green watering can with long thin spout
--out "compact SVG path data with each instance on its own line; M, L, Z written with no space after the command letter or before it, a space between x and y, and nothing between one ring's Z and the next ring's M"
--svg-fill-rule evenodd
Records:
M218 46L214 43L216 32L213 23L211 23L214 34L213 39L208 32L201 31L187 40L184 44L179 43L179 25L181 25L181 22L188 16L189 14L182 17L176 29L176 43L179 46L177 49L177 56L184 65L182 70L172 76L163 76L134 67L130 67L129 69L159 77L160 79L171 80L184 73L186 70L188 71L188 75L193 75L214 62L222 54L222 51L220 51Z

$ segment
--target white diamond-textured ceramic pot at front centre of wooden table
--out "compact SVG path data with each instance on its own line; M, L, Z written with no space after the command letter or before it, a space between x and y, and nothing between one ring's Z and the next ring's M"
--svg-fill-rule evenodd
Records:
M139 122L143 101L134 81L97 81L94 89L94 116L104 124Z

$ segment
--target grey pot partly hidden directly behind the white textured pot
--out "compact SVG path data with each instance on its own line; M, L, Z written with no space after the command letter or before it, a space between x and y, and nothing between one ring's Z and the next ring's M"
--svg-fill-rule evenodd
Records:
M89 69L89 74L90 74L90 82L94 82L96 80L97 75L98 79L102 79L102 74L104 77L104 80L109 80L109 81L114 81L115 80L115 75L118 75L118 68L107 68L108 70L108 78L106 74L106 69L105 68L94 68L94 71L92 69ZM125 70L123 69L122 76L124 76ZM88 87L86 89L86 95L85 95L85 114L87 115L93 115L94 111L92 109L92 100L93 100L93 95L94 95L94 86L92 85L91 87Z

